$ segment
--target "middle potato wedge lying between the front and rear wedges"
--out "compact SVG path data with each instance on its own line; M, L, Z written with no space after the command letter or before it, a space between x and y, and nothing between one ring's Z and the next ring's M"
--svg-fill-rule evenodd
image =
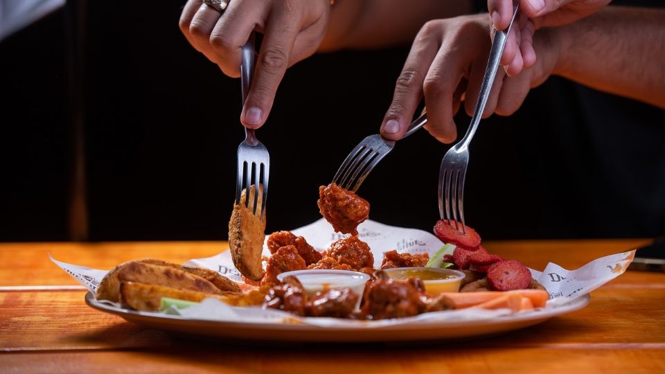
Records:
M118 280L123 282L162 285L179 290L204 292L206 294L222 294L222 291L200 276L170 266L130 262L118 270Z

